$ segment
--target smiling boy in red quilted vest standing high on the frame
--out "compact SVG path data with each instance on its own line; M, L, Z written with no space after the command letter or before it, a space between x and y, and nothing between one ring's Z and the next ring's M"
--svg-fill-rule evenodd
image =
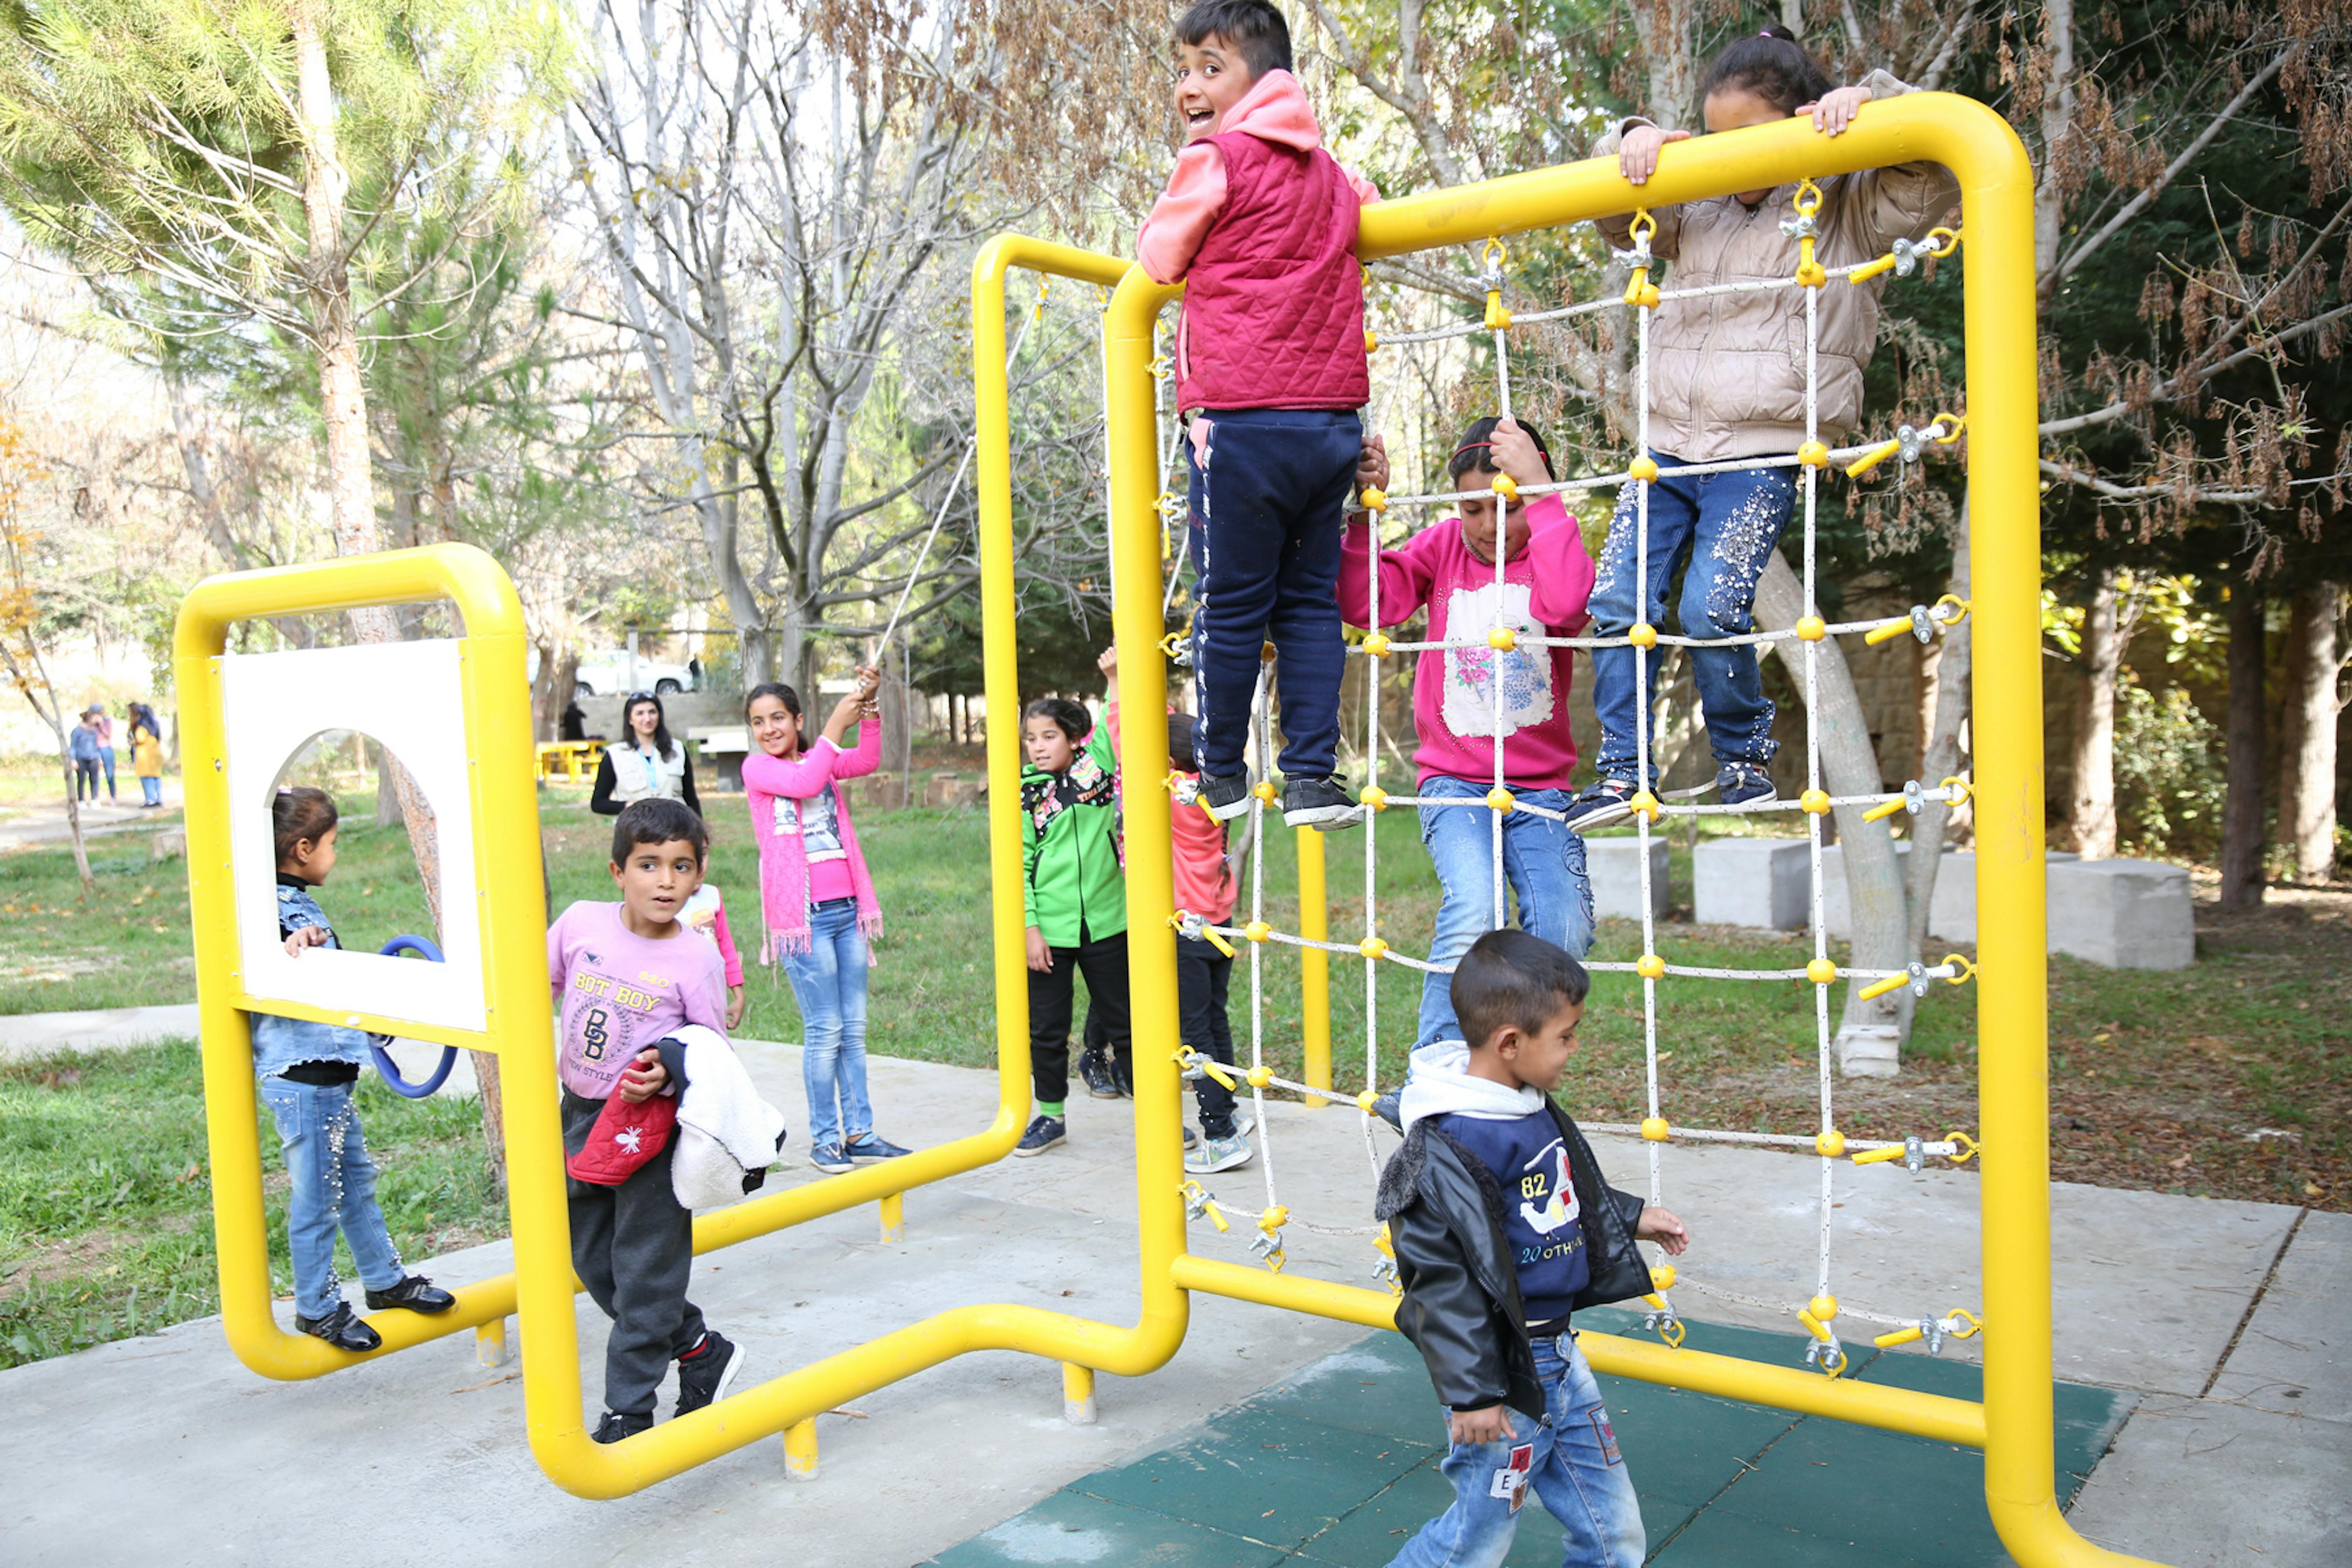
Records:
M1338 766L1341 529L1371 397L1355 226L1367 181L1322 150L1270 0L1197 0L1176 21L1185 148L1136 254L1185 280L1178 407L1190 416L1200 797L1249 809L1249 701L1275 644L1282 820L1352 827Z

